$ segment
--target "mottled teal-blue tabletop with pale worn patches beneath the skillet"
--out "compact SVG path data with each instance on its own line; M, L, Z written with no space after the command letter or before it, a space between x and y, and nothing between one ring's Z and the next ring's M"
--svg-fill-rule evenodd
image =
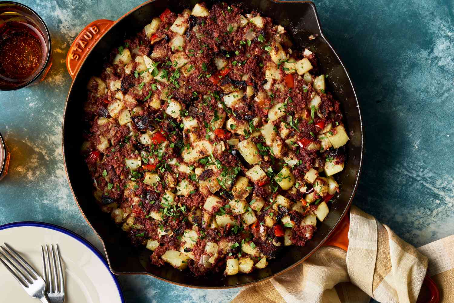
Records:
M59 224L101 248L64 173L61 121L71 83L64 59L84 25L115 20L141 1L20 2L49 26L54 64L44 83L0 92L0 132L12 153L0 182L0 224ZM365 161L354 203L416 246L454 233L453 0L315 2L364 118ZM137 303L228 302L239 291L186 289L144 276L120 281L127 301Z

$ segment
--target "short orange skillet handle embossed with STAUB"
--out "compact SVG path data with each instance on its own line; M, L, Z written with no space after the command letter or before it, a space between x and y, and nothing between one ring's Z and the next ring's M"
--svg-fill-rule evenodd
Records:
M80 65L84 62L85 57L95 44L96 40L98 40L113 24L114 21L112 20L95 20L85 26L76 37L69 48L68 55L66 55L66 68L72 79L74 79Z

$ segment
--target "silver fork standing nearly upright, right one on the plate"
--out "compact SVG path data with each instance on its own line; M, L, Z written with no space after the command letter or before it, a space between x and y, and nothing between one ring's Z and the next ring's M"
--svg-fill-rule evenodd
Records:
M41 245L42 258L43 258L43 278L46 281L46 293L50 303L63 303L64 302L64 278L63 268L61 266L60 248L58 244L50 244L50 255L52 262L49 259L49 245ZM55 256L55 254L57 256ZM45 257L45 258L44 258ZM58 263L58 268L57 268ZM52 269L51 265L52 264Z

